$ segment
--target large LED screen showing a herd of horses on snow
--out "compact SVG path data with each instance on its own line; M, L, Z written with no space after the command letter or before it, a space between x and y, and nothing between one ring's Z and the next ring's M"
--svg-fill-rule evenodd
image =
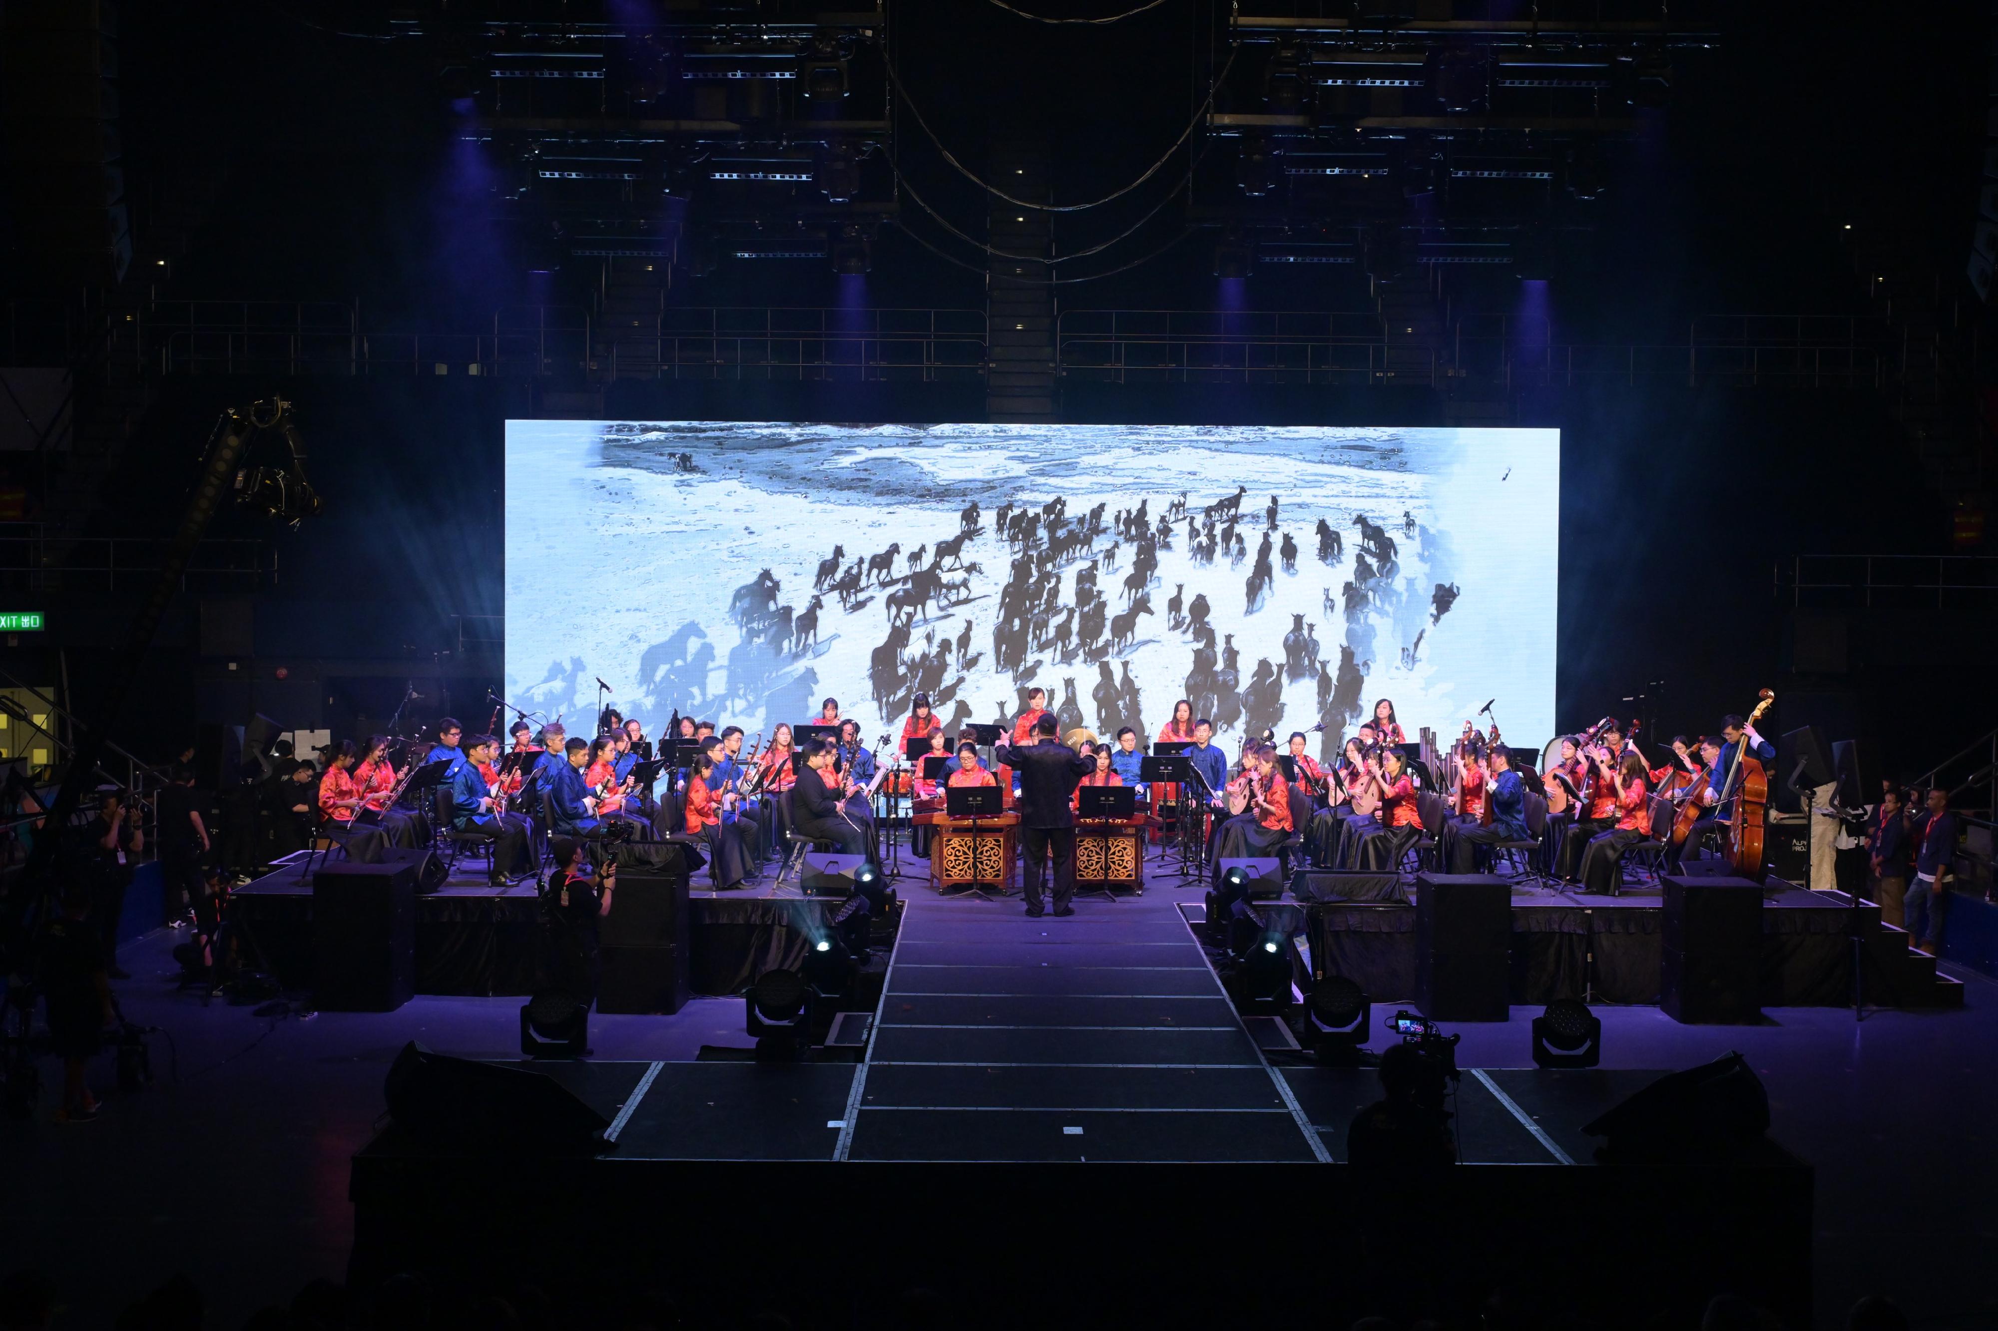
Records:
M1554 430L515 420L507 695L571 733L599 679L647 733L831 695L873 743L1041 685L1065 731L1191 697L1327 755L1379 697L1411 739L1497 699L1538 743L1558 508Z

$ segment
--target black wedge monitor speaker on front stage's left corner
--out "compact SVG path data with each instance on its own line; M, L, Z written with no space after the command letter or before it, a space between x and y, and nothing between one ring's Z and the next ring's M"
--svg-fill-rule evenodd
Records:
M432 1151L595 1155L611 1123L553 1077L434 1053L414 1039L382 1085L390 1117Z

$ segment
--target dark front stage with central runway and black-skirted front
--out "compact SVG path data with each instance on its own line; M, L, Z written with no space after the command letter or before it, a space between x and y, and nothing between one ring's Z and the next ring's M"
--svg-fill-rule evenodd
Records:
M1351 1311L1359 1285L1293 1277L1353 1263L1373 1281L1425 1261L1473 1283L1558 1285L1600 1313L1696 1309L1718 1281L1806 1325L1800 1161L1770 1147L1740 1167L1592 1165L1582 1123L1654 1071L1467 1069L1463 1167L1413 1191L1353 1173L1347 1125L1379 1099L1375 1073L1273 1065L1185 897L1029 919L1017 901L919 891L859 1063L535 1065L613 1121L615 1151L595 1159L500 1167L390 1125L354 1159L354 1275L416 1259L450 1277L529 1263L565 1279L633 1261L695 1297L757 1281L837 1299L851 1281L993 1287L1025 1229L1069 1257L1009 1263L991 1297L1057 1325L1115 1317L1147 1287L1173 1291L1173 1325L1323 1319ZM1546 1263L1546 1239L1580 1217L1646 1239L1616 1263ZM867 1257L877 1243L893 1243L893 1273ZM1183 1279L1187 1263L1251 1255L1271 1279Z

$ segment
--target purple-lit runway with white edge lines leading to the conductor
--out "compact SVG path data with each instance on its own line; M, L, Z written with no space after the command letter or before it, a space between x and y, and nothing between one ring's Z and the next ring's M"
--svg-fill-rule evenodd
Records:
M1327 1159L1171 893L905 899L839 1159Z

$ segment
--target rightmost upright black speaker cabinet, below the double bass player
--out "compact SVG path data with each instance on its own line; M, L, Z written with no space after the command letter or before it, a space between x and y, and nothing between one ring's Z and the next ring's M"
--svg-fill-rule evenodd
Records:
M1742 877L1664 879L1658 1007L1674 1021L1762 1015L1762 887Z

